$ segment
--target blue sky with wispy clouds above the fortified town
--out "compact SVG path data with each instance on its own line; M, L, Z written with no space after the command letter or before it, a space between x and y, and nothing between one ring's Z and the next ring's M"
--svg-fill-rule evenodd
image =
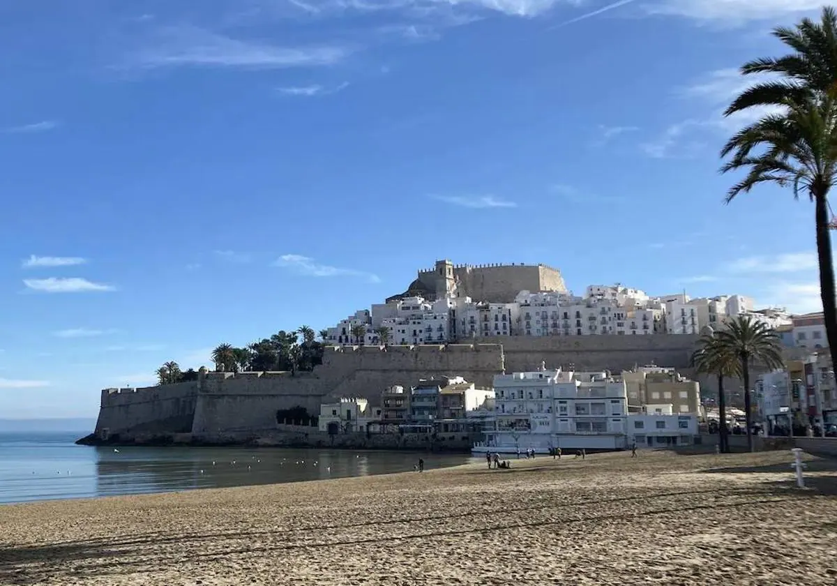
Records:
M439 258L816 309L813 207L725 207L735 69L809 0L0 0L0 417L93 415Z

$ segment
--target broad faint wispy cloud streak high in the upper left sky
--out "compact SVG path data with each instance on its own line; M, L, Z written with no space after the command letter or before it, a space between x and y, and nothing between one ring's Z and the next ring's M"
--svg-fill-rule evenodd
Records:
M352 52L338 45L280 47L225 37L198 27L168 27L157 31L146 49L131 55L129 66L239 67L284 69L336 64Z

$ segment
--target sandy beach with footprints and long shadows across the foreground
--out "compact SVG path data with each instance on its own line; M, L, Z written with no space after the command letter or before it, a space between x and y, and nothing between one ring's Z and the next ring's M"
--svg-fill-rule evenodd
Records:
M830 586L837 461L809 461L804 491L790 461L540 456L0 506L0 584Z

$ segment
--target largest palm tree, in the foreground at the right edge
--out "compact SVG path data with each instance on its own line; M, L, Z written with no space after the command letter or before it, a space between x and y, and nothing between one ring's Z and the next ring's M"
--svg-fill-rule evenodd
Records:
M729 189L726 201L761 183L775 183L792 187L794 198L803 194L814 202L819 290L831 362L837 367L837 291L828 200L837 172L837 11L823 8L819 22L804 18L793 28L773 29L773 36L791 53L752 60L742 65L741 73L776 79L744 90L724 112L770 112L738 131L721 150L721 157L730 157L721 172L747 170L747 176Z

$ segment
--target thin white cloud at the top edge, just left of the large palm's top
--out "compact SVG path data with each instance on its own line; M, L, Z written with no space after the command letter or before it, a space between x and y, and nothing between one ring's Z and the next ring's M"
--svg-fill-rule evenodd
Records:
M778 18L819 10L823 0L659 0L646 2L646 13L680 16L725 25Z

